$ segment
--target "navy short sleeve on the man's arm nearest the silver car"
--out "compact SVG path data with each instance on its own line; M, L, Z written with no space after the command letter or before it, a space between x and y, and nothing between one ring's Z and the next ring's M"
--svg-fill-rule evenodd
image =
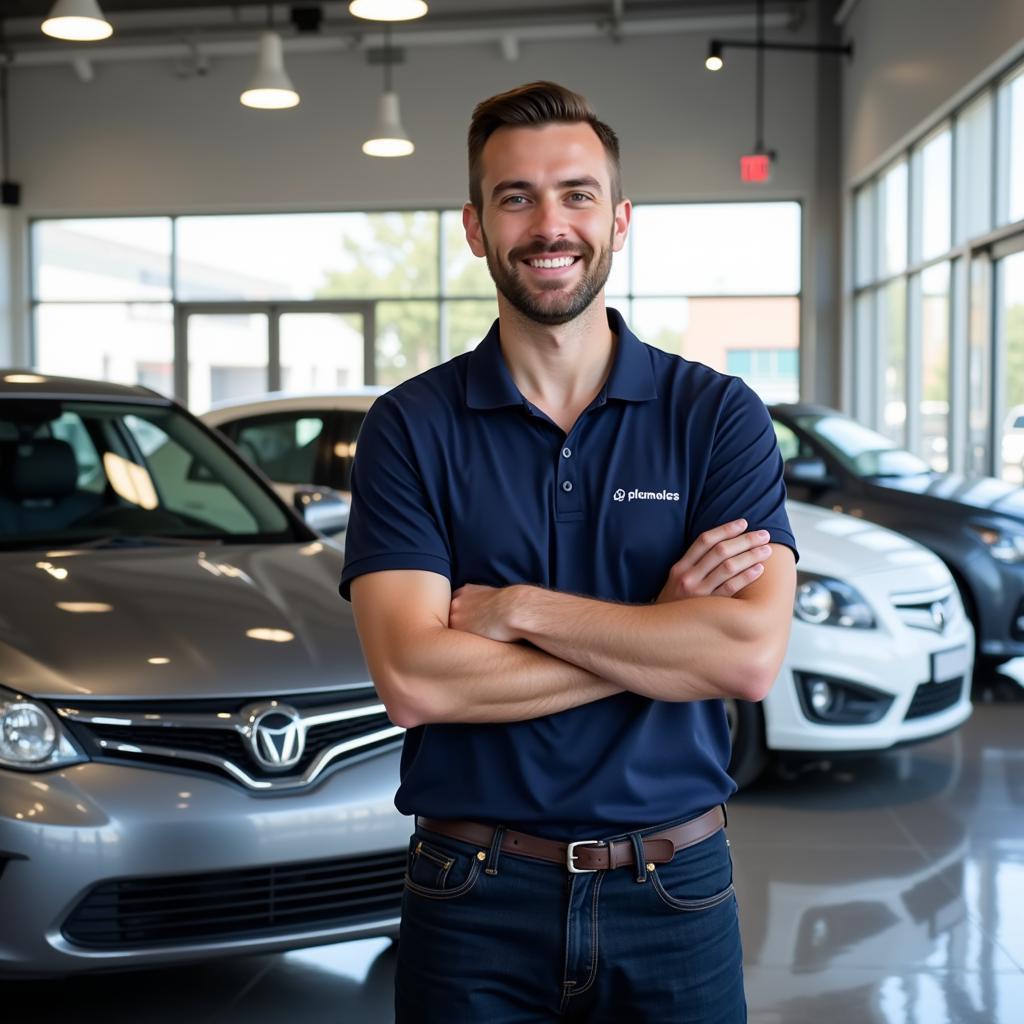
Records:
M359 430L352 467L352 507L339 590L386 569L426 569L452 579L447 538L434 514L422 457L389 396L378 398Z

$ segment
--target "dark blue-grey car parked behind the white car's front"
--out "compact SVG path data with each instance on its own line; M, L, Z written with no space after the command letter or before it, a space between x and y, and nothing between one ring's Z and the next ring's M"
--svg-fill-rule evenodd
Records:
M888 437L821 406L771 407L790 497L888 526L952 573L991 665L1024 655L1024 489L939 473Z

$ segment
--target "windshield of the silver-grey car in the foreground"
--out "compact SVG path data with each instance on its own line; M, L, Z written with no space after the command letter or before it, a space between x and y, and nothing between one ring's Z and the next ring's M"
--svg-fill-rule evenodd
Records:
M132 538L296 540L264 486L173 407L0 399L0 547Z

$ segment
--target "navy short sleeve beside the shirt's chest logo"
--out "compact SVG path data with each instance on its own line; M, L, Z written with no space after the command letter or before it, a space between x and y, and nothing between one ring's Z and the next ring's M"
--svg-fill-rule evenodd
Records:
M741 380L729 382L712 440L708 473L690 522L690 537L733 519L766 529L800 558L785 511L782 457L771 416Z

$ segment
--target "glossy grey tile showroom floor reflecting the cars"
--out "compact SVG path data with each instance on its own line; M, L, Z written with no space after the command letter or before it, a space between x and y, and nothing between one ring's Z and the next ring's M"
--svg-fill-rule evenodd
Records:
M751 1024L1024 1021L1024 668L958 732L730 805ZM1010 676L1019 676L1015 681ZM5 1024L390 1021L386 940L0 985ZM485 1022L481 1022L485 1024Z

